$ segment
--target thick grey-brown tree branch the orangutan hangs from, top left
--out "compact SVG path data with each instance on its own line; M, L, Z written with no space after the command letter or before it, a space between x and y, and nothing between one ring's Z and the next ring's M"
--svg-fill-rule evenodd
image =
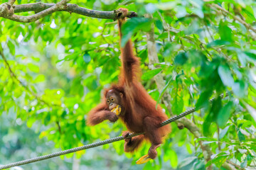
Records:
M105 18L116 20L118 18L116 11L95 11L87 8L82 8L77 4L66 4L70 0L60 1L58 4L21 4L11 6L10 4L4 3L0 5L0 17L17 21L21 23L31 23L37 21L40 18L48 16L56 11L67 11L69 13L78 13L82 16L89 16L92 18ZM36 14L32 16L17 16L14 13L35 11ZM128 18L137 16L137 13L129 11Z

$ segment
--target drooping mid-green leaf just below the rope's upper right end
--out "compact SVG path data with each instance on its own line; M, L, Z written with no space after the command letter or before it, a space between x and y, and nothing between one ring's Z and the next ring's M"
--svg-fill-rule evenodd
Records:
M220 126L220 128L224 128L226 123L228 122L228 119L230 118L230 111L233 107L233 101L228 101L223 108L220 109L220 112L218 113L217 123Z

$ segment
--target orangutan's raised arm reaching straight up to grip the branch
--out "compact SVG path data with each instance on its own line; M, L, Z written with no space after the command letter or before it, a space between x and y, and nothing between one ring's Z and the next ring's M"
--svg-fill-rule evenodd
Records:
M128 10L126 8L119 8L122 13L122 18L118 20L120 42L122 39L122 24L125 22L125 16L127 16ZM120 43L121 46L121 43ZM124 47L121 47L122 56L122 80L127 82L132 82L138 80L137 74L139 74L139 58L134 56L132 51L132 41L128 40Z

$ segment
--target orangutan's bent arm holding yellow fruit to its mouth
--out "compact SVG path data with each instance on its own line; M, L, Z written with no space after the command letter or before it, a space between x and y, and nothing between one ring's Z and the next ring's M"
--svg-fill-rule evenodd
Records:
M108 110L108 106L105 101L102 101L98 106L92 109L87 116L87 125L97 125L104 120L110 120L110 122L117 121L118 117L115 113Z

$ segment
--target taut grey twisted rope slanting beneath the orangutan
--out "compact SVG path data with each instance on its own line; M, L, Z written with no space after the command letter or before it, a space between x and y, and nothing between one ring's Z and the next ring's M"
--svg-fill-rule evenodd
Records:
M232 93L231 91L228 91L228 92ZM226 96L228 96L228 92L226 92ZM220 95L221 98L223 98L223 96L224 96L223 94ZM213 100L214 100L214 98L210 99L210 102L212 102ZM175 115L174 117L169 118L168 120L165 120L164 122L161 123L161 126L172 123L172 122L174 122L174 121L176 121L180 118L183 118L184 116L189 115L189 114L191 114L195 111L196 111L196 108L188 109L187 111L184 111L183 113L181 113L179 115ZM142 134L143 133L132 133L127 138L135 137L137 135L142 135ZM39 162L39 161L42 161L44 159L50 159L50 158L53 158L53 157L58 157L60 155L70 154L70 153L73 153L73 152L78 152L80 150L90 149L92 147L98 147L98 146L109 144L109 143L112 143L112 142L117 142L119 140L124 140L124 137L122 137L122 136L114 137L114 138L111 138L111 139L108 139L108 140L102 140L100 142L95 142L95 143L92 143L92 144L83 145L82 147L75 147L73 149L67 149L67 150L60 151L60 152L55 152L55 153L52 153L52 154L46 154L46 155L43 155L41 157L35 157L35 158L31 158L31 159L26 159L26 160L23 160L23 161L20 161L20 162L14 162L14 163L11 163L11 164L2 165L2 166L0 166L0 169L8 169L8 168L11 168L11 167L14 167L14 166L20 166L20 165L23 165L23 164L30 164L30 163L33 163L33 162Z

